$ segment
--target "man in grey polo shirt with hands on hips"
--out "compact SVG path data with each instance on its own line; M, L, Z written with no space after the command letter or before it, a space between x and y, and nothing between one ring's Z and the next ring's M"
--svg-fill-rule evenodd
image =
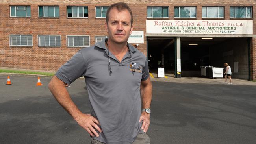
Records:
M56 100L91 135L93 144L150 143L146 132L152 84L145 55L127 43L132 20L127 4L111 5L105 23L108 39L81 49L49 83ZM65 88L80 76L85 77L91 114L83 114Z

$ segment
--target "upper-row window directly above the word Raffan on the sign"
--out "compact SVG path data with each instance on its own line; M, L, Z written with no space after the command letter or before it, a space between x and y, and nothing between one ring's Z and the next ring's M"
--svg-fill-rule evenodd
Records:
M169 7L147 7L147 18L168 18Z

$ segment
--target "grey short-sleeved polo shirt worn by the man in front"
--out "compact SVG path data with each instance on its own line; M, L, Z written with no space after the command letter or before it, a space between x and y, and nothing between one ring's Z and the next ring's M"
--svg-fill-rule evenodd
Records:
M105 41L82 48L59 68L56 76L67 84L81 76L85 77L91 115L99 120L103 131L99 137L95 137L96 140L107 144L131 144L138 133L143 133L139 122L139 87L141 81L149 76L147 59L130 44L128 46L134 62L132 67L129 52L119 62L109 51L110 73Z

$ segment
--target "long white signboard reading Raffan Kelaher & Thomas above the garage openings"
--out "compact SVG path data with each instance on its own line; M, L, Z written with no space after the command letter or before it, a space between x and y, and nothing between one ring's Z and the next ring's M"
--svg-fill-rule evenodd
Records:
M252 35L252 20L147 20L147 34Z

